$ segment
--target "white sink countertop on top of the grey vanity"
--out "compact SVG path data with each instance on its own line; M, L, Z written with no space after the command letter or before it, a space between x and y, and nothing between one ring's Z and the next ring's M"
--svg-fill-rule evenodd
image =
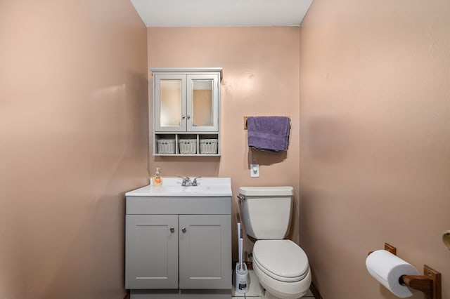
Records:
M193 177L191 178L191 180ZM125 193L127 197L231 197L231 178L198 178L198 186L181 186L181 178L162 177L161 186L147 185Z

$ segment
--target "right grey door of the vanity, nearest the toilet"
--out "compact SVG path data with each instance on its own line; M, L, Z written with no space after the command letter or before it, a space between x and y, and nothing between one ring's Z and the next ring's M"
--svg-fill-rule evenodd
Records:
M231 215L179 215L179 288L230 288Z

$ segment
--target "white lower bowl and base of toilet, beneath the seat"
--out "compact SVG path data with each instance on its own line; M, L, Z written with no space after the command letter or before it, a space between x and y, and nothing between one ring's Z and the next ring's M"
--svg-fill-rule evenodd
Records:
M306 294L309 290L309 286L311 286L311 270L309 267L307 276L301 281L295 282L275 280L259 270L259 267L255 265L255 263L253 263L253 270L259 280L259 284L266 289L266 292L269 292L268 295L264 296L264 298L267 299L274 299L274 297L270 297L270 295L273 295L275 298L279 299L297 299Z

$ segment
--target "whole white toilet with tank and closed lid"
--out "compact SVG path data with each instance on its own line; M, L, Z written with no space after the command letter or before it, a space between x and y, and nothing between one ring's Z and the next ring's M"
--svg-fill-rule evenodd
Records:
M288 232L293 187L240 187L245 232L257 239L253 270L266 292L281 299L300 298L311 285L306 253Z

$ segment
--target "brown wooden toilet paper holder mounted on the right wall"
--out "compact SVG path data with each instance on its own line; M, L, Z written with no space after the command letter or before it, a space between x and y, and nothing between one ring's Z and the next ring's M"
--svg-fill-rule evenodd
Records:
M397 255L397 248L390 244L385 243L385 250ZM423 275L402 275L399 283L425 293L427 299L442 299L441 273L427 265L423 265Z

